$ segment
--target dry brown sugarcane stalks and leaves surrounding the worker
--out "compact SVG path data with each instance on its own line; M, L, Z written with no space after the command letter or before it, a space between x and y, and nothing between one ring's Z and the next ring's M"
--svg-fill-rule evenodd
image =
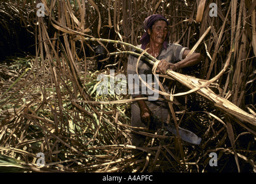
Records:
M212 2L217 4L217 17L209 16ZM45 17L36 16L37 3L44 4ZM30 16L36 18L36 57L0 93L0 168L255 172L255 6L248 0L37 0L20 6L30 7ZM193 72L168 71L164 76L177 81L175 120L202 142L180 141L165 129L140 132L148 136L147 147L139 148L147 155L137 159L131 155L135 147L129 134L132 100L129 95L96 93L97 76L112 76L109 68L94 70L94 48L102 45L107 50L104 60L112 61L110 68L125 74L131 45L139 44L144 18L154 13L170 21L171 43L205 56ZM144 57L154 64L147 53ZM0 70L11 75L10 68ZM0 85L5 83L1 80ZM190 89L193 93L186 93ZM41 168L36 164L39 152L45 155ZM218 167L209 166L210 152L217 153Z

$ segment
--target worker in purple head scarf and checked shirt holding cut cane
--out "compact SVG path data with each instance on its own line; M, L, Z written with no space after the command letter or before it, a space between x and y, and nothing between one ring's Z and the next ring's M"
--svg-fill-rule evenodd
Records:
M171 44L167 42L169 37L168 31L169 22L165 17L154 14L149 16L144 21L144 30L142 39L140 39L141 45L137 46L142 49L148 49L147 52L154 56L156 59L161 60L159 62L156 72L166 74L167 69L178 70L179 68L190 67L198 64L202 57L200 53L192 53L186 57L189 53L189 49L182 47L178 44ZM132 55L128 59L127 74L136 75L137 58ZM152 66L147 62L139 61L137 67L138 74L152 74ZM163 87L168 91L168 84L163 83ZM141 86L139 94L131 94L132 98L148 97L149 95L142 93ZM129 89L131 90L131 89ZM135 101L131 105L131 125L132 127L157 127L166 122L169 109L166 101L161 99L157 101ZM154 122L152 121L154 119ZM154 125L152 125L152 123ZM136 129L134 129L136 130ZM136 133L132 133L132 144L137 147L143 147L145 137Z

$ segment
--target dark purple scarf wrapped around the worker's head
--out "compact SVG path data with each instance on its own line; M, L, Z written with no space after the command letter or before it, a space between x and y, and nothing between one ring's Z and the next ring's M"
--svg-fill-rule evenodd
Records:
M148 42L150 42L150 35L147 33L147 30L148 30L148 28L150 28L153 25L153 23L156 20L164 20L164 21L166 21L167 25L169 25L169 22L162 15L153 14L152 16L147 17L144 20L144 30L146 32L142 35L142 38L140 39L140 43L142 44L142 49L146 49L146 46L147 46ZM165 41L163 42L163 47L165 49L166 49L169 34L170 34L170 32L168 32L167 36L165 37Z

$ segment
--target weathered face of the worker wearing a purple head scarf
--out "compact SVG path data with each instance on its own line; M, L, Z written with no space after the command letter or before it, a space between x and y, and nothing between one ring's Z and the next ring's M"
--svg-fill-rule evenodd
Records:
M163 44L167 33L168 26L166 21L163 20L156 21L155 24L152 26L152 31L148 29L148 34L150 34L150 40L158 44Z

